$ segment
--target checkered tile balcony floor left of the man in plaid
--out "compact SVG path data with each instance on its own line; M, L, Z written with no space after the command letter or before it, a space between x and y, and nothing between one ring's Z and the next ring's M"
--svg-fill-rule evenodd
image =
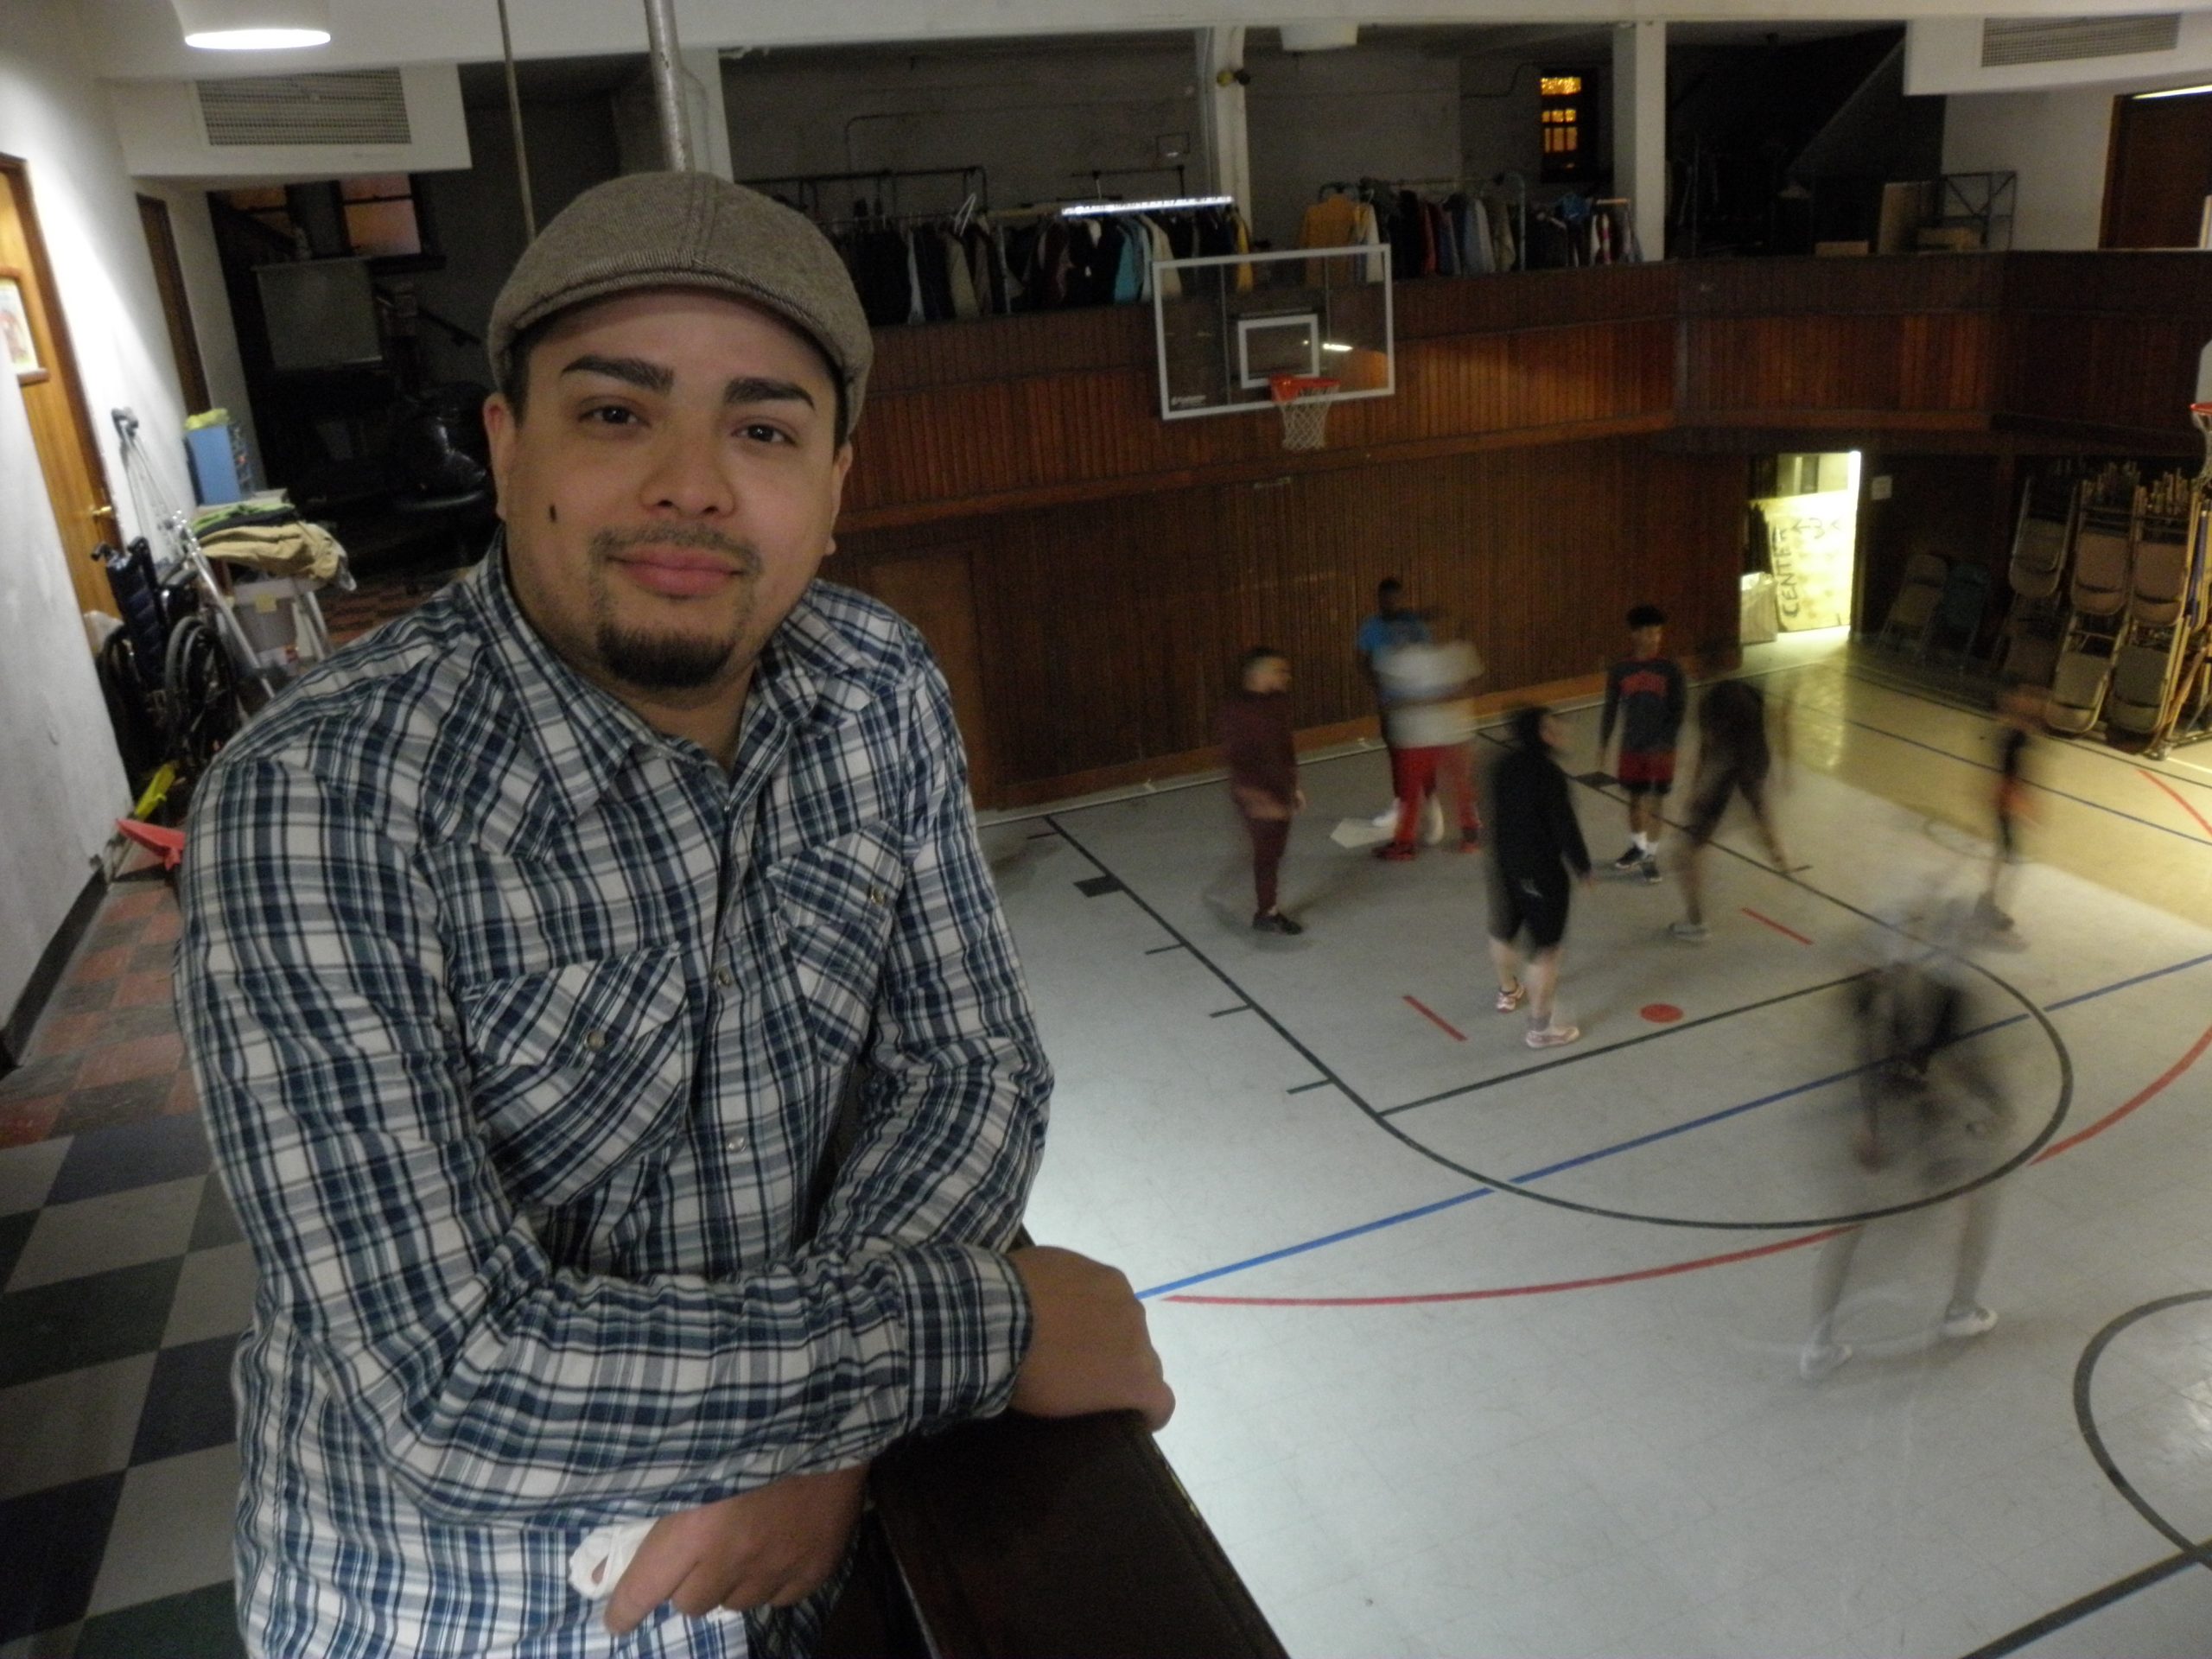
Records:
M175 938L166 885L113 887L0 1077L0 1659L241 1652L252 1259L181 1064Z

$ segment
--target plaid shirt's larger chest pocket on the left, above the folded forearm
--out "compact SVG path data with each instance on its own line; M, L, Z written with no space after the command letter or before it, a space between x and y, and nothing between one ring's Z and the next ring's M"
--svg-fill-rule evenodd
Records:
M564 1203L684 1121L692 1044L677 951L487 980L458 1000L476 1115L515 1201Z

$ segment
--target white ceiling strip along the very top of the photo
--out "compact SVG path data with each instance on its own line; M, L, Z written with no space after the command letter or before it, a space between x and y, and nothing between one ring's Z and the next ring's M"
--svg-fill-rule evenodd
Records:
M677 33L701 46L834 46L1188 31L1356 20L1451 29L1668 18L1699 33L1825 29L1907 18L2093 15L2143 9L2212 11L2212 0L677 0ZM493 0L330 0L332 44L294 53L204 53L184 44L168 0L77 0L93 66L111 77L270 75L409 62L482 62L500 55ZM641 51L641 0L509 0L518 58ZM1272 40L1263 42L1272 44ZM1480 49L1480 46L1475 46Z

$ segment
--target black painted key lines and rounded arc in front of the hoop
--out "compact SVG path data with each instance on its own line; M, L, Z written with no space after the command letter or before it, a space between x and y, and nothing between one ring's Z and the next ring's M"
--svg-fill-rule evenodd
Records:
M1491 741L1500 741L1500 739L1491 739ZM1073 830L1068 830L1064 823L1060 823L1057 814L1048 814L1046 823L1051 823L1053 830L1062 838L1066 838L1066 843L1071 847L1075 847L1084 858L1088 858L1095 869L1106 872L1106 863L1095 852L1091 852L1091 847L1084 845L1084 841ZM1712 843L1712 845L1719 847L1721 843ZM1743 858L1743 863L1754 865L1759 869L1767 869L1765 863L1752 858L1750 854L1734 852L1732 847L1721 847L1721 852L1730 854L1732 858ZM1796 880L1792 876L1778 876L1778 880L1787 880L1794 887L1805 887L1805 891L1814 894L1816 898L1825 898L1827 902L1836 905L1838 909L1847 909L1854 916L1858 916L1858 918L1863 918L1867 922L1874 922L1876 927L1882 927L1882 929L1887 929L1891 933L1905 933L1905 929L1896 927L1893 922L1887 922L1880 916L1863 911L1856 905L1851 905L1849 900L1836 898L1834 894L1825 894L1818 887L1801 883L1801 880ZM1168 933L1168 938L1179 940L1190 951L1190 956L1197 958L1206 967L1208 973L1212 973L1217 980L1221 980L1221 984L1225 984L1230 991L1234 991L1237 995L1241 995L1245 1000L1245 1006L1250 1006L1252 1013L1256 1013L1261 1020L1265 1020L1267 1026L1285 1044L1290 1044L1316 1073L1321 1073L1332 1084L1336 1084L1336 1088L1343 1093L1343 1097L1349 1099L1354 1106L1358 1106L1358 1110L1365 1113L1367 1121L1371 1121L1385 1135L1389 1135L1391 1139L1396 1139L1409 1152L1418 1152L1420 1157L1429 1159L1431 1164L1436 1164L1440 1168L1447 1168L1447 1170L1451 1170L1451 1172L1455 1172L1455 1175L1473 1181L1475 1186L1486 1186L1486 1188L1493 1188L1498 1192L1511 1192L1511 1194L1522 1197L1522 1199L1533 1199L1537 1203L1548 1203L1555 1210L1571 1210L1571 1212L1577 1212L1577 1214L1606 1217L1608 1221L1641 1221L1641 1223L1655 1225L1655 1228L1703 1228L1703 1230L1723 1230L1723 1232L1778 1232L1778 1230L1794 1232L1794 1230L1803 1230L1803 1228L1834 1228L1834 1225L1858 1225L1858 1223L1865 1223L1865 1221L1880 1221L1885 1217L1911 1214L1916 1210L1927 1210L1927 1208L1938 1206L1938 1203L1949 1203L1951 1199L1955 1199L1955 1197L1960 1197L1964 1192L1973 1192L1975 1188L1989 1186L1993 1181L2002 1181L2013 1170L2026 1166L2037 1152L2042 1152L2044 1146L2051 1144L2051 1139L2059 1133L2059 1126L2066 1121L2068 1108L2073 1106L2073 1086L2075 1086L2073 1051L2066 1046L2066 1040L2059 1035L2057 1026L2051 1024L2051 1018L2039 1006L2035 1006L2035 1002L2024 991L2020 991L2020 987L2015 987L2008 980L2000 978L1997 973L1989 971L1980 962L1964 962L1964 967L1973 969L1975 973L1980 973L1989 982L1997 984L2015 1002L2020 1002L2022 1009L2026 1009L2024 1015L2015 1015L2015 1018L2033 1018L2044 1029L2044 1035L2048 1037L2048 1042L2051 1042L2051 1046L2053 1046L2053 1051L2057 1055L2057 1062L2059 1062L2059 1097L2057 1097L2057 1106L2051 1113L2051 1121L2044 1124L2042 1133L2037 1133L2035 1139L2031 1139L2017 1155L2013 1155L2004 1164L1995 1166L1993 1170L1986 1170L1984 1175L1980 1175L1980 1177L1975 1177L1971 1181L1960 1181L1953 1188L1944 1188L1942 1192L1929 1192L1929 1194L1922 1194L1918 1199L1909 1199L1905 1203L1891 1203L1891 1206L1882 1206L1882 1208L1876 1208L1876 1210L1854 1210L1849 1214L1792 1219L1792 1221L1714 1221L1710 1217L1666 1217L1666 1214L1648 1214L1648 1212L1639 1212L1639 1210L1615 1210L1615 1208L1599 1206L1599 1203L1582 1203L1577 1199L1564 1199L1564 1197L1559 1197L1555 1192L1537 1192L1537 1190L1524 1186L1522 1181L1509 1181L1509 1179L1502 1179L1502 1177L1495 1177L1495 1175L1484 1175L1482 1170L1469 1168L1467 1164L1460 1164L1453 1157L1444 1157L1442 1152L1438 1152L1433 1146L1429 1146L1420 1137L1409 1135L1402 1128L1398 1128L1394 1121L1389 1121L1389 1117L1383 1110L1378 1110L1365 1095L1360 1095L1356 1088L1352 1088L1352 1084L1347 1084L1332 1066L1327 1066L1321 1060L1321 1055L1316 1055L1305 1042L1301 1042L1290 1031L1290 1026L1285 1026L1250 991L1245 991L1241 984L1237 984L1237 980L1230 978L1230 973L1219 962L1214 962L1206 951L1201 951L1197 945L1192 945L1190 938L1179 927L1175 927L1175 922L1170 922L1166 916L1161 916L1159 909L1144 894L1139 894L1135 887L1128 887L1128 885L1124 885L1121 891L1126 891L1130 896L1130 902L1135 902L1146 916L1150 916L1159 925L1159 929L1164 933ZM1911 938L1911 933L1905 933L1905 938ZM1916 940L1916 942L1924 942L1924 940ZM2011 1022L2006 1022L2006 1024L2011 1024ZM1980 1033L1966 1033L1966 1035L1980 1035ZM1960 1040L1964 1042L1964 1037L1960 1037ZM1601 1051L1593 1048L1590 1053L1601 1053ZM1838 1082L1840 1077L1851 1077L1858 1071L1865 1071L1865 1066L1858 1066L1858 1068L1847 1071L1847 1073L1838 1073L1836 1077L1816 1079L1814 1084L1801 1084L1798 1088L1785 1091L1785 1095L1801 1093L1805 1086L1825 1086L1825 1084ZM1759 1106L1759 1104L1767 1104L1767 1102L1765 1099L1752 1102L1752 1106ZM1688 1124L1677 1124L1672 1128L1657 1130L1655 1135L1637 1137L1635 1141L1628 1141L1628 1144L1621 1144L1621 1146L1610 1146L1610 1148L1599 1148L1595 1152L1584 1152L1584 1155L1566 1159L1566 1161L1562 1161L1557 1166L1537 1170L1535 1175L1553 1175L1557 1170L1566 1170L1566 1168L1573 1168L1573 1166L1579 1166L1579 1164L1588 1164L1588 1161L1593 1161L1597 1157L1610 1157L1615 1152L1632 1150L1635 1146L1641 1146L1644 1141L1666 1139L1670 1135L1681 1135L1681 1133L1686 1133L1690 1128L1699 1128L1705 1121L1712 1121L1714 1117L1732 1117L1732 1115L1736 1115L1741 1110L1747 1110L1747 1106L1732 1106L1732 1108L1728 1108L1728 1110L1723 1110L1719 1115L1708 1115L1703 1119L1690 1119Z

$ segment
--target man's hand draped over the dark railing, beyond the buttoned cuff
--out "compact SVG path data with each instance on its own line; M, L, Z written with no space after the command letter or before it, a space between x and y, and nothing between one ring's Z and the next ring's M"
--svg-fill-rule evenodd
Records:
M1141 1411L1155 1433L1164 1429L1175 1416L1175 1391L1128 1279L1046 1245L1015 1250L1009 1261L1035 1316L1029 1356L1013 1378L1013 1409L1033 1418Z

